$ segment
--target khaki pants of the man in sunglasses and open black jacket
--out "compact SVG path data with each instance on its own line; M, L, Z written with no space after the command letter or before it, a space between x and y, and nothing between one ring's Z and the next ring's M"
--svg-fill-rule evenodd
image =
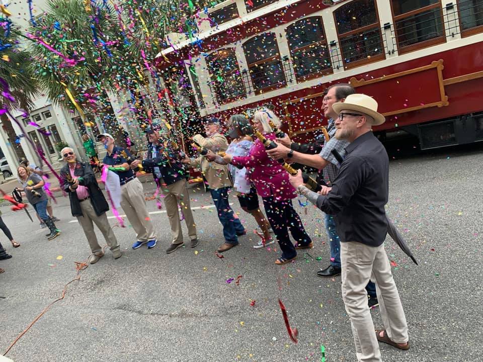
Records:
M85 200L81 202L81 210L83 216L77 216L77 220L79 224L81 224L84 233L86 234L87 241L89 242L89 246L91 247L91 252L93 254L99 253L102 251L101 246L97 242L96 233L94 232L94 223L97 225L99 230L101 230L102 234L104 235L104 239L106 239L107 245L111 251L119 249L119 244L117 243L116 236L112 232L112 228L109 225L109 221L107 221L106 213L102 214L101 216L97 216L94 208L91 205L91 200Z

